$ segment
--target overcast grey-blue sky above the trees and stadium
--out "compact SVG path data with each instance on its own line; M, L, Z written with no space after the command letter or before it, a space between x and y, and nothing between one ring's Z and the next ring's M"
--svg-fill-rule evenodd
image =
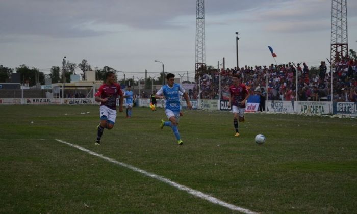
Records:
M349 48L357 50L357 1L348 3ZM206 0L206 64L307 62L330 55L331 0ZM110 66L126 77L162 71L190 79L195 66L195 0L1 0L0 65L49 73L64 56ZM80 70L78 71L80 73ZM121 74L119 74L121 78ZM187 78L185 75L184 78Z

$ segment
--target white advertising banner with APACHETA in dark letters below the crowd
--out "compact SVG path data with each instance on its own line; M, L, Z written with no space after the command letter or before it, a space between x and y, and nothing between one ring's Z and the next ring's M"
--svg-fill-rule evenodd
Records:
M297 102L297 113L303 115L331 114L330 102Z

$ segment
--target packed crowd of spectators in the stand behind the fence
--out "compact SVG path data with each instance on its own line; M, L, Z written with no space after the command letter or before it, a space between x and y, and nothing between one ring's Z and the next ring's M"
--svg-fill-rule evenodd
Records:
M221 93L221 99L228 99L231 77L233 74L239 74L251 94L265 91L268 100L330 101L331 71L334 91L332 99L339 102L355 102L357 60L346 59L338 61L332 69L327 68L326 62L322 61L318 68L313 67L311 71L306 63L291 62L281 65L244 66L240 69L227 68L220 71L202 69L198 73L200 85L193 90L192 98L198 98L199 94L201 99L219 99Z

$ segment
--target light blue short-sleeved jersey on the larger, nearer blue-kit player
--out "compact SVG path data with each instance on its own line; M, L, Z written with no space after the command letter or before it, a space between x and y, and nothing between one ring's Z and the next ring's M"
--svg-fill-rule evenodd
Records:
M174 83L172 87L168 85L161 87L156 95L165 96L165 109L179 112L181 105L180 92L185 93L185 89L181 85Z

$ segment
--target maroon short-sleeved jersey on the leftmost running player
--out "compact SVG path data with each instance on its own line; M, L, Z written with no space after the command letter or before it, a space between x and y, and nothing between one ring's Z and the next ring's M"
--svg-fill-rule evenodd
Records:
M121 91L120 85L114 83L112 85L101 85L94 96L102 99L107 98L108 100L106 102L101 102L100 105L105 105L110 109L116 110L116 98L118 95L122 96L123 92Z

